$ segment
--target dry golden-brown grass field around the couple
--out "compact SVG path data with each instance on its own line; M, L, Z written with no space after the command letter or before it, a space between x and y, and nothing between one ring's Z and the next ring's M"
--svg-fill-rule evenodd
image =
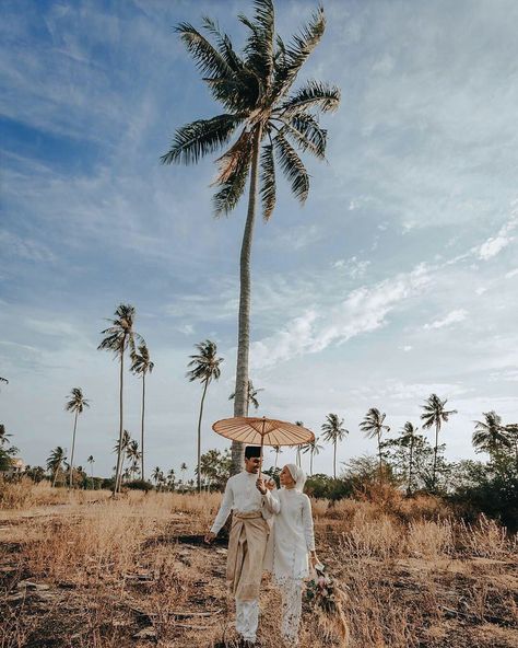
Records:
M0 646L233 646L224 542L199 536L219 495L0 486ZM346 592L351 648L518 646L517 540L439 501L314 502L317 546ZM260 640L280 648L267 579ZM306 610L303 648L343 646Z

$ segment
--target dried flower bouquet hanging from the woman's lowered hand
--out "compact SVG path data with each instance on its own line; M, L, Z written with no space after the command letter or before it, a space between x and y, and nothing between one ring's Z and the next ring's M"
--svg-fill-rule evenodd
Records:
M306 583L304 600L317 616L326 639L337 639L342 648L346 648L349 627L342 608L346 594L323 565L316 565L315 572L315 577Z

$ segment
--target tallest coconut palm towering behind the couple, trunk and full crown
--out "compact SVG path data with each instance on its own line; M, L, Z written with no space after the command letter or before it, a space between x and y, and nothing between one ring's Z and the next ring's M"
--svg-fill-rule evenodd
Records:
M316 115L335 111L340 91L319 81L307 81L291 92L303 65L323 35L326 20L321 8L289 45L275 34L273 0L256 0L254 18L239 15L238 20L248 34L240 55L229 37L210 19L202 22L208 37L188 23L176 27L224 113L178 128L162 162L196 163L203 155L226 147L233 135L238 134L235 142L217 159L214 211L216 216L232 211L249 182L239 261L234 398L234 416L245 416L250 343L250 258L257 196L260 194L262 216L268 221L275 206L276 158L292 193L304 204L309 192L309 176L295 149L318 159L325 158L327 132ZM233 442L233 474L242 470L243 450L243 443Z

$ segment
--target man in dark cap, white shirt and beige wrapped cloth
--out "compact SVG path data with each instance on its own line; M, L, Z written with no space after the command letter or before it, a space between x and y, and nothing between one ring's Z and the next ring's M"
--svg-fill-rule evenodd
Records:
M205 542L211 543L233 510L228 540L226 580L236 600L236 629L245 646L256 643L259 623L259 589L270 525L267 519L279 504L258 479L260 448L245 449L245 470L228 479L216 519Z

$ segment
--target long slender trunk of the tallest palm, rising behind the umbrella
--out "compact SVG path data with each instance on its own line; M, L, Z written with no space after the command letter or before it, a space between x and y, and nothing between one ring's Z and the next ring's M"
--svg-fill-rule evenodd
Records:
M243 233L239 259L239 315L237 329L237 367L236 389L234 390L234 416L246 416L248 393L248 354L250 347L250 259L256 220L257 183L259 178L259 150L261 144L262 124L256 128L254 153L250 170L250 192L248 195L248 212ZM232 442L231 473L235 475L243 468L244 445L239 441Z

